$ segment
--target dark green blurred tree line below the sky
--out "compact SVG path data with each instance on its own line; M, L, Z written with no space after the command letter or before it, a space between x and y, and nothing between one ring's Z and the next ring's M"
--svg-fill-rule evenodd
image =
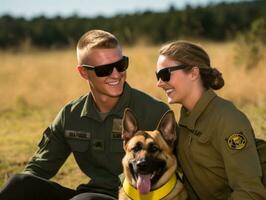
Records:
M139 40L158 44L177 38L224 41L248 31L258 19L266 20L265 0L205 7L187 5L182 10L169 6L165 12L147 10L112 17L73 15L25 19L4 15L0 17L0 48L14 48L25 43L41 48L67 47L75 45L79 37L90 29L110 31L126 45Z

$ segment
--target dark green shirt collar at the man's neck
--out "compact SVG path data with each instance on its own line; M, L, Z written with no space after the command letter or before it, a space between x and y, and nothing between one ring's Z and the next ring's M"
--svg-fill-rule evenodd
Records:
M124 90L121 95L121 97L118 100L118 103L113 107L113 109L109 112L109 115L116 115L117 117L122 117L124 113L124 109L129 105L131 97L131 87L128 85L128 83L125 82L124 84ZM99 116L99 113L97 111L94 99L92 97L92 94L89 93L87 96L84 106L81 111L81 117L89 117L92 119L95 119L97 121L102 121L101 117Z

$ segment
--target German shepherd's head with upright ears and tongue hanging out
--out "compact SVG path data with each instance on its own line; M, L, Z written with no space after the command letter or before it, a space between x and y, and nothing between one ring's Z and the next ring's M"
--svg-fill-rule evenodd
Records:
M138 130L132 111L123 117L122 137L126 152L124 173L141 194L162 186L175 173L176 122L172 111L167 112L154 131Z

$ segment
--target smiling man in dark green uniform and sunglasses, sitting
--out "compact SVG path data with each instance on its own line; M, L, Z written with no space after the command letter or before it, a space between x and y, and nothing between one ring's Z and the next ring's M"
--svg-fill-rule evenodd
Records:
M0 192L1 200L115 199L124 155L121 119L129 107L139 128L153 130L167 105L126 83L128 58L114 35L91 30L77 44L77 69L90 93L65 105L44 131L39 149L21 174L13 176ZM77 190L48 179L69 154L90 182Z

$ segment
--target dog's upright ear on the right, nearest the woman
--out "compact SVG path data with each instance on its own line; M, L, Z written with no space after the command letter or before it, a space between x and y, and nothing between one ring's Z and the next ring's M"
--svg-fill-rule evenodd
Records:
M168 110L163 115L157 130L160 131L167 144L172 147L176 140L176 121L175 114L172 110Z

